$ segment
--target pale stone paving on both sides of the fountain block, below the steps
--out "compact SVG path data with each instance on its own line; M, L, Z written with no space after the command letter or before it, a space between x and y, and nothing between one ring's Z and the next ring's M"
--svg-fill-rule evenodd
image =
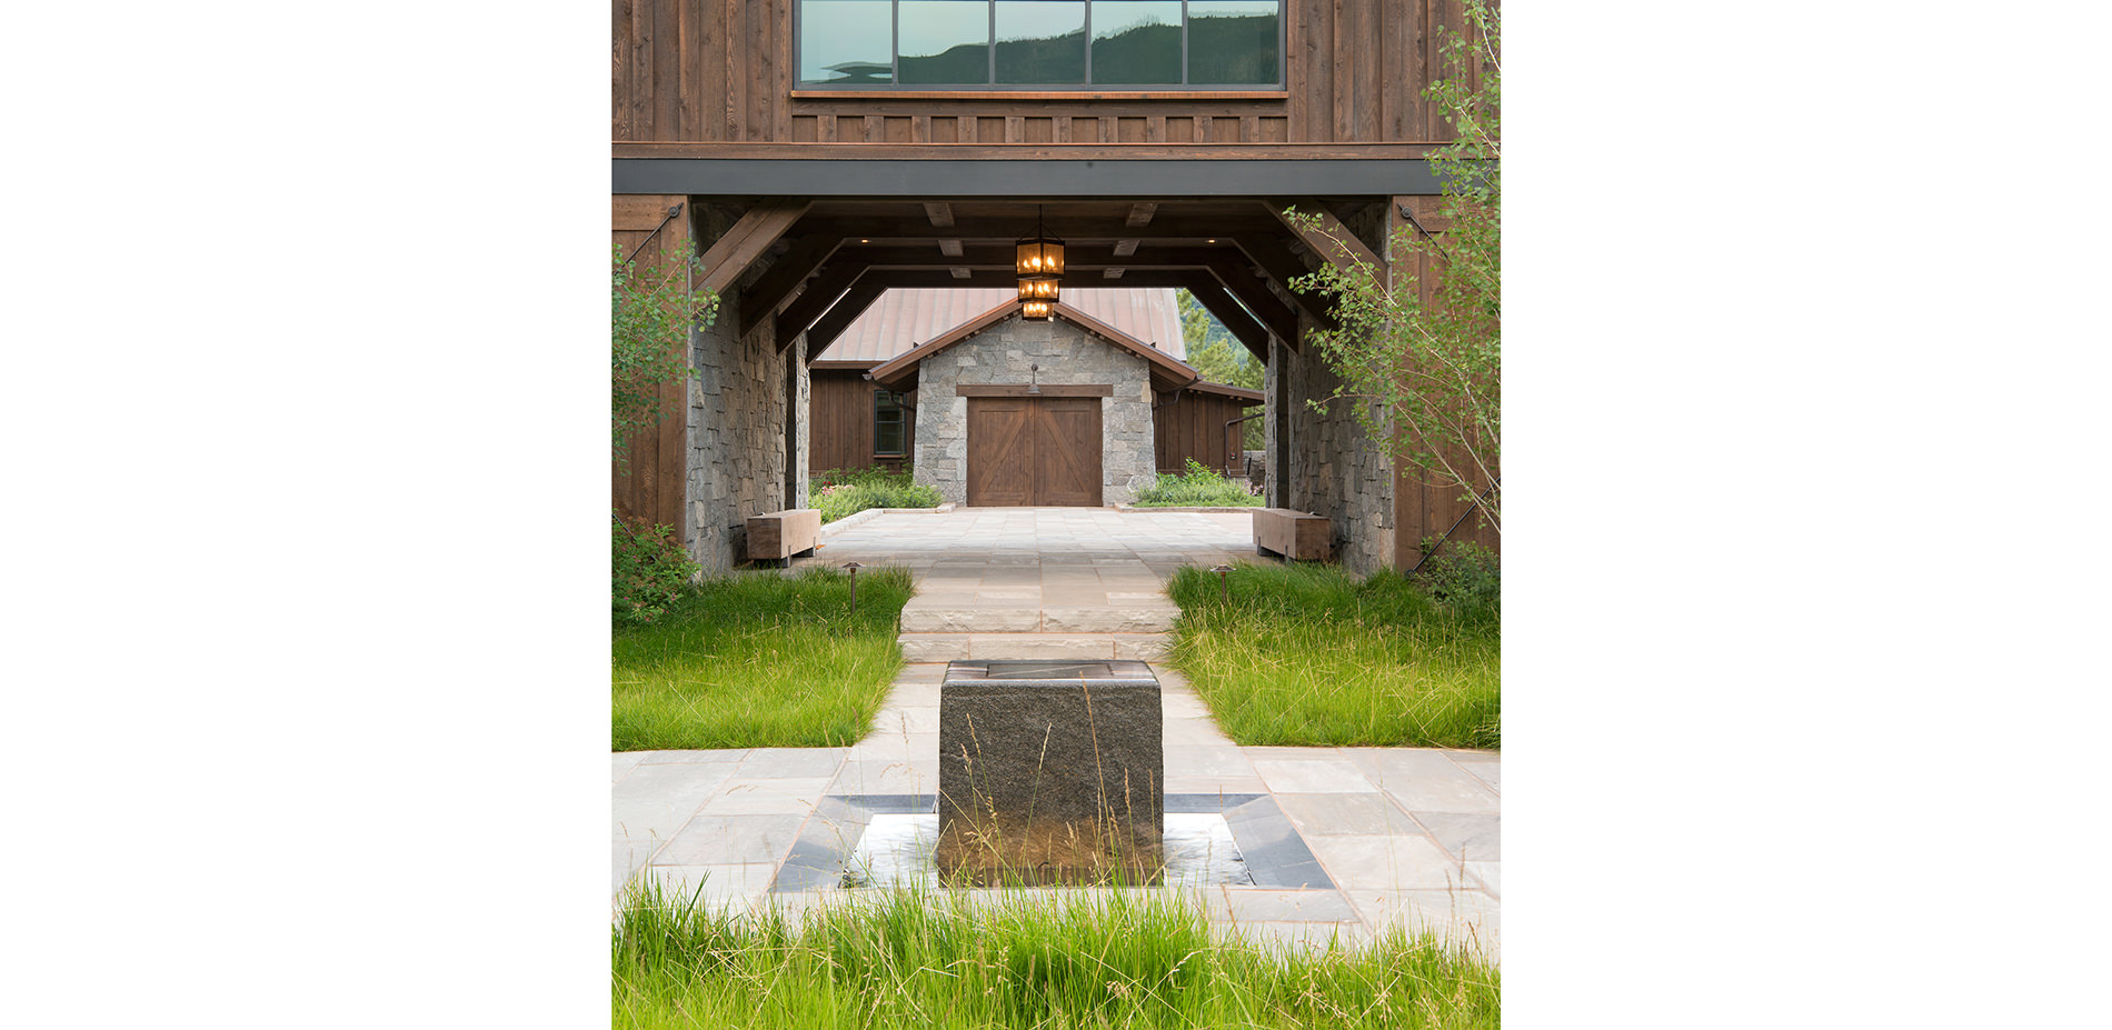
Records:
M771 891L824 796L938 791L942 663L904 667L855 747L615 756L615 882L701 884L716 905L805 910L845 891ZM1198 891L1212 924L1322 943L1415 924L1497 956L1500 758L1411 747L1240 747L1187 682L1164 684L1166 791L1274 798L1333 880ZM1242 840L1242 848L1255 842Z

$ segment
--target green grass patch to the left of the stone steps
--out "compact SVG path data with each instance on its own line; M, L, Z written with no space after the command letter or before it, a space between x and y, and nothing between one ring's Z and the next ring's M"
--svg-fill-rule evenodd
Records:
M617 627L612 747L845 747L902 669L902 568L849 576L737 572L691 587L657 623Z

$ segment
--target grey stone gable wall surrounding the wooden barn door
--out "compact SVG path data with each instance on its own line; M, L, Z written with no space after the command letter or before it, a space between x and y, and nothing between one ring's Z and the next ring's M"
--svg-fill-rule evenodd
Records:
M1151 445L1151 369L1115 344L1062 319L1024 321L1018 314L953 344L917 369L914 479L938 488L940 498L967 504L967 397L959 384L1029 382L1109 384L1100 399L1100 504L1128 504L1157 479Z

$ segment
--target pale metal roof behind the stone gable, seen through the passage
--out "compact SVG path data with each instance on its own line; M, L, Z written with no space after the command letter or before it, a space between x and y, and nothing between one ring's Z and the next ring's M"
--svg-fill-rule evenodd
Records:
M889 289L843 329L815 361L862 361L879 365L910 352L917 344L1014 300L1012 289ZM1181 340L1181 304L1172 289L1077 289L1064 287L1062 302L1151 344L1174 361L1187 361Z

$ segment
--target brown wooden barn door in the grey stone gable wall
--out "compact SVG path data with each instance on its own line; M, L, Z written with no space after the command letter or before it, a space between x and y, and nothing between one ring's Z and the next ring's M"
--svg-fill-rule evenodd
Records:
M969 397L972 507L1100 507L1098 397Z

